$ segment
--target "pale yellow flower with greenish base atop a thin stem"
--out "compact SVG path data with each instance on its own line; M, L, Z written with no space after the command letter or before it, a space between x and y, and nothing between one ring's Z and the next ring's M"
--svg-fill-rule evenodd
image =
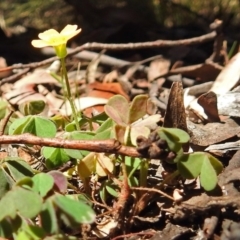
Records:
M32 45L36 48L52 46L55 48L59 58L67 55L67 41L81 32L77 30L77 25L67 25L60 33L54 29L49 29L43 33L39 33L40 40L33 40Z

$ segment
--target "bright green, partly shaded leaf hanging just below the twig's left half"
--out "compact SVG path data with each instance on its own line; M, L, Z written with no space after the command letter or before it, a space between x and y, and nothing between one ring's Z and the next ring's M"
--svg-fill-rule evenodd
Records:
M43 147L42 154L46 158L46 165L49 169L61 166L70 159L62 148Z

